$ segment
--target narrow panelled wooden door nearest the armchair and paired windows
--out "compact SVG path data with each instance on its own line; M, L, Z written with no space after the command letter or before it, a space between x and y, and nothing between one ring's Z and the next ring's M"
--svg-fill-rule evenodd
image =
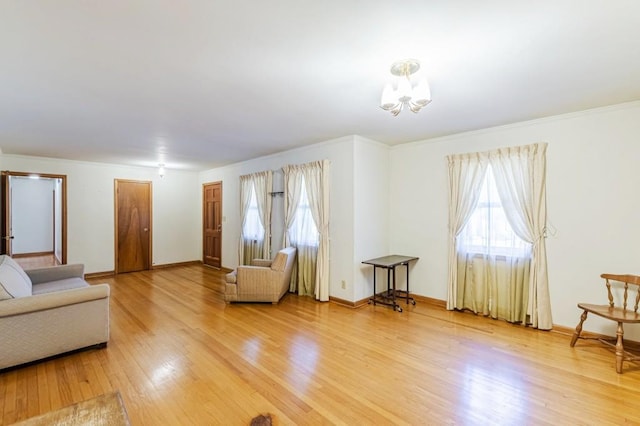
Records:
M202 262L222 266L222 182L202 186Z

